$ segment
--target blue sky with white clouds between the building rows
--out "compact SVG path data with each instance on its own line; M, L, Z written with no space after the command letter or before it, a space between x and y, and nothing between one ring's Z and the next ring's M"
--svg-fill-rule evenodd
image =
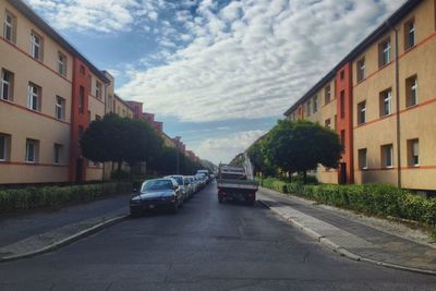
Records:
M228 162L404 0L26 0L187 148Z

